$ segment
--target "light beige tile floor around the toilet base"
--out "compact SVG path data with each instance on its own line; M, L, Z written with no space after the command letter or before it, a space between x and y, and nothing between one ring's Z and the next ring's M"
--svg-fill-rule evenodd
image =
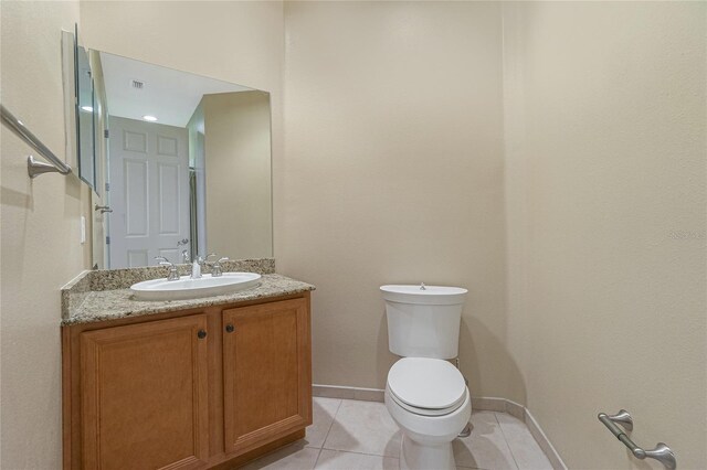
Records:
M505 413L474 412L472 427L469 437L453 444L460 470L552 469L519 419ZM307 437L245 469L397 470L399 456L400 429L384 404L315 397L314 424Z

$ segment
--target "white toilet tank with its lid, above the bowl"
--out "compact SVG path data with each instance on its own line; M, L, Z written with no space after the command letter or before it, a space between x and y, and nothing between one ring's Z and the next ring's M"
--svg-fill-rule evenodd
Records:
M445 286L381 286L388 348L403 357L458 355L460 322L467 290Z

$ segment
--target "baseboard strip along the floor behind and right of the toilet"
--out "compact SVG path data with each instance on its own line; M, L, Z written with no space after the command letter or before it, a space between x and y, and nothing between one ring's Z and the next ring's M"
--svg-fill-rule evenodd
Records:
M360 387L345 387L339 385L319 385L312 386L314 396L326 398L341 398L341 399L360 399L365 402L383 402L386 391L379 388L360 388ZM548 437L542 432L540 425L530 414L525 406L511 402L507 398L499 397L486 397L486 396L473 396L472 408L483 409L486 412L499 412L507 413L526 424L528 430L540 446L540 449L545 452L548 460L552 464L555 470L567 470L567 466L562 461L562 458L557 452Z

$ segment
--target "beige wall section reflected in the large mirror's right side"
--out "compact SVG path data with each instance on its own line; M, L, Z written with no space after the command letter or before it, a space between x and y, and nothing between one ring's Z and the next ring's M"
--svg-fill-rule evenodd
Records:
M270 95L205 95L207 252L273 256Z

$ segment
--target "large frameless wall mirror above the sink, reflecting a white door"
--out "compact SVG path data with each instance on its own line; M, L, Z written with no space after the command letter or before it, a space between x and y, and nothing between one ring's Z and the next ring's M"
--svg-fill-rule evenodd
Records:
M99 51L98 268L273 256L270 94ZM101 249L103 248L103 249Z

